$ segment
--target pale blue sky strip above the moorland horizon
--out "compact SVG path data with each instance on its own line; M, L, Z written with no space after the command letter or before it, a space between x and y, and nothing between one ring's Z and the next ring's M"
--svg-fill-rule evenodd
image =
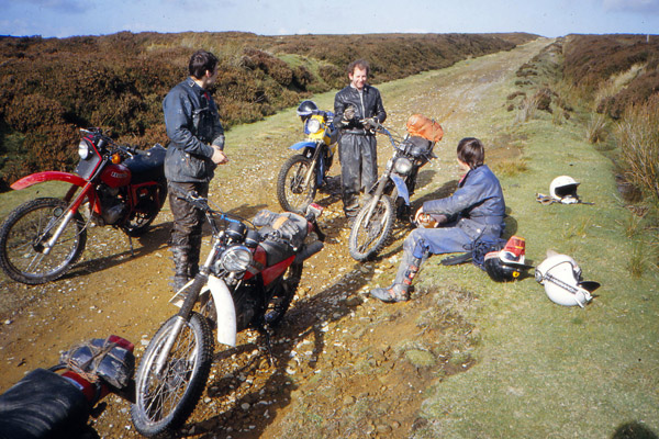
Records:
M659 0L0 0L0 35L659 34Z

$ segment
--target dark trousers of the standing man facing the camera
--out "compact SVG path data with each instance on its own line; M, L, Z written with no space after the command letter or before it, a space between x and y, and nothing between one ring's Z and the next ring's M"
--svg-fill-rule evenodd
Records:
M342 133L338 148L344 212L347 217L355 217L359 212L359 192L368 191L378 180L376 136Z

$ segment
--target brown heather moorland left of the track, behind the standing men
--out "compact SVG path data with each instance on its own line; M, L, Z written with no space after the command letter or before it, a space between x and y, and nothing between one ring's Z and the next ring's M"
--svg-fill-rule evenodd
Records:
M345 86L356 58L375 83L511 49L528 34L258 36L250 33L0 37L0 190L43 169L70 170L79 127L120 142L167 143L161 101L198 48L221 58L214 91L227 127Z

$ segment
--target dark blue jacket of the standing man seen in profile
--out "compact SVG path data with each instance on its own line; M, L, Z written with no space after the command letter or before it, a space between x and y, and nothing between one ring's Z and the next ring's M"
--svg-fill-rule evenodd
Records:
M167 180L209 182L216 168L210 145L224 148L224 128L213 98L188 78L167 93L163 111L171 140L165 157Z

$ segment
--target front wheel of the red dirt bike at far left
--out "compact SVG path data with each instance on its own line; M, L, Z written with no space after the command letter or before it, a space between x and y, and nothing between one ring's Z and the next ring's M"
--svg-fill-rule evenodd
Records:
M0 228L0 266L14 281L40 284L66 273L87 244L85 221L72 215L57 241L47 244L66 218L67 203L59 199L36 199L21 204Z

